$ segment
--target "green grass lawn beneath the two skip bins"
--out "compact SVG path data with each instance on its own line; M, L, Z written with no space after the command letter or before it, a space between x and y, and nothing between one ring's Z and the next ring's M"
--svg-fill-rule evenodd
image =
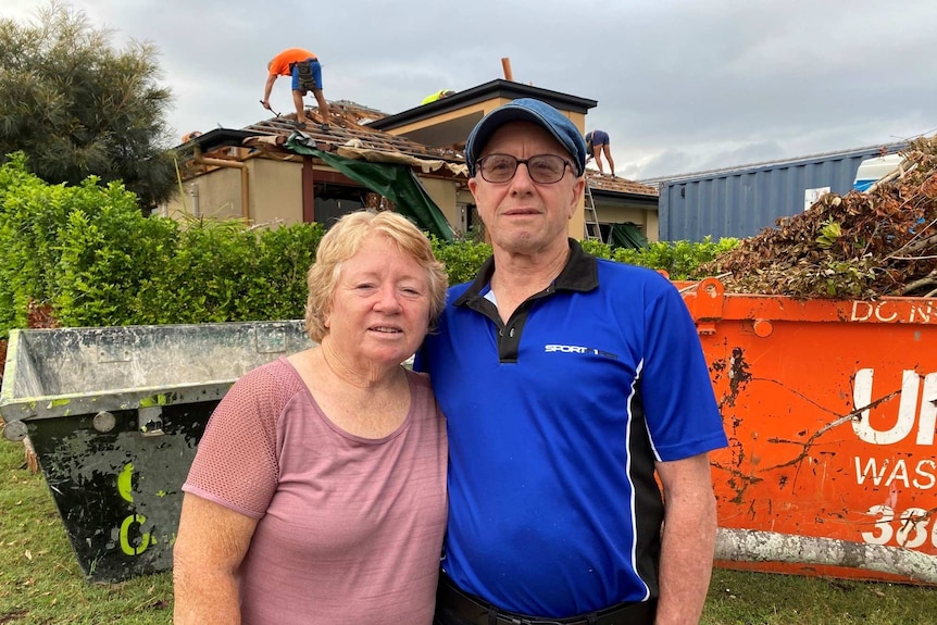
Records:
M172 575L89 584L41 474L0 438L0 625L167 625ZM920 625L937 589L717 568L704 625Z

